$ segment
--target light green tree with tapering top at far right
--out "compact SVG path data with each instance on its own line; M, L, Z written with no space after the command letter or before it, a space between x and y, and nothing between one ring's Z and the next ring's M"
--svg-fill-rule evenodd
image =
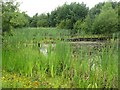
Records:
M110 2L106 2L101 13L96 16L93 23L94 34L110 34L117 31L118 15Z

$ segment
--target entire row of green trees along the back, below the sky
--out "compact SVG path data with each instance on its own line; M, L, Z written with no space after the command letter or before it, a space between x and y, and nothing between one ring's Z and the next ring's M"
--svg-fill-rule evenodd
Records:
M119 2L102 2L91 9L74 2L30 17L12 0L2 3L3 32L21 27L57 27L69 29L71 34L111 34L119 31L119 10Z

